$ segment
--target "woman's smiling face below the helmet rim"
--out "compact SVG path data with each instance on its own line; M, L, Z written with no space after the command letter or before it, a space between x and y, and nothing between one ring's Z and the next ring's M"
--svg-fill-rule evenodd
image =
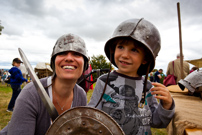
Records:
M83 73L83 55L73 51L57 54L55 58L55 72L60 79L77 80Z

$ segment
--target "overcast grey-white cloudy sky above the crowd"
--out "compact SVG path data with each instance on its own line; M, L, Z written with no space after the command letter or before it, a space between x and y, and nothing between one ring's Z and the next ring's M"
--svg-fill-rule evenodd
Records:
M11 68L18 48L31 65L49 62L56 40L63 34L82 37L89 56L105 55L105 42L115 28L131 18L153 23L161 35L155 68L164 73L179 48L177 2L180 3L185 60L201 58L201 0L0 0L0 68ZM191 65L192 67L193 65Z

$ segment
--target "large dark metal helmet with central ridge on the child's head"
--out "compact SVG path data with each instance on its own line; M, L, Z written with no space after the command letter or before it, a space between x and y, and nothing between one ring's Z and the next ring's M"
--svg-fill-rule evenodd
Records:
M144 19L129 19L122 22L115 29L112 37L105 44L105 53L111 63L115 66L114 50L111 50L111 47L114 45L115 39L120 37L132 38L148 49L152 60L149 62L150 64L141 65L141 69L138 69L138 74L145 75L148 66L150 66L149 72L151 72L155 66L155 58L161 48L161 39L157 28Z

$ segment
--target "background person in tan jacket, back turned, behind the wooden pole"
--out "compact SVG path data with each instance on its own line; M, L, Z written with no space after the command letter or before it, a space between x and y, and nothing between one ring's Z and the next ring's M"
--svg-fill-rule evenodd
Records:
M184 56L183 56L184 57ZM184 73L184 77L186 77L189 74L189 63L186 61L183 61L183 73ZM168 63L168 67L167 67L167 72L166 75L170 75L173 74L173 61L170 61ZM177 54L177 59L174 60L174 76L177 77L176 79L176 84L180 79L184 79L181 78L181 64L180 64L180 54Z

